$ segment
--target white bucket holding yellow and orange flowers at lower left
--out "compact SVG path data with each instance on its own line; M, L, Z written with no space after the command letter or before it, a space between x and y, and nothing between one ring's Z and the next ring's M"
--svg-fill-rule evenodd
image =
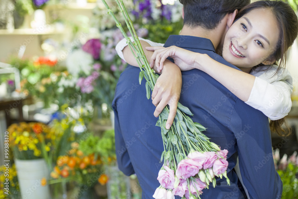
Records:
M49 185L41 186L41 179L49 179L49 170L44 159L15 159L21 198L50 199Z

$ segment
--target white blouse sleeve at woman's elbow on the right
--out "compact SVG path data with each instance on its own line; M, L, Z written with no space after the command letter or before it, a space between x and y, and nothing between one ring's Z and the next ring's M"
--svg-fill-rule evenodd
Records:
M252 92L245 103L262 111L271 120L278 120L290 112L293 79L288 70L272 77L274 70L256 76ZM254 74L253 74L254 75Z

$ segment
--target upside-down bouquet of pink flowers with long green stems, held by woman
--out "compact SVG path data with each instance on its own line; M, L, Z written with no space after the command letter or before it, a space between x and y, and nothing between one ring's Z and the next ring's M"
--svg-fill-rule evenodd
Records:
M143 78L146 79L145 86L149 99L158 75L148 64L124 3L122 0L116 0L134 43L128 38L108 4L104 0L102 1L108 9L108 14L113 17L117 27L126 38L131 51L136 52L133 54L141 69L139 81L141 83ZM199 195L202 194L202 190L209 188L210 182L215 187L215 176L220 178L224 176L229 184L229 179L226 176L228 166L226 155L228 151L220 150L216 144L209 141L209 138L202 133L206 128L201 124L194 123L187 116L193 115L187 107L178 103L175 121L169 130L165 127L168 115L169 108L165 107L156 123L156 126L161 127L164 144L161 161L164 160L164 165L158 176L161 185L156 189L153 197L174 198L174 195L179 195L187 199L200 198Z

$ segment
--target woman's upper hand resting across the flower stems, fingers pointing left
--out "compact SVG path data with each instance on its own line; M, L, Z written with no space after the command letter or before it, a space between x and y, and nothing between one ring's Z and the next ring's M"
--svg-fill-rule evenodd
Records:
M194 53L183 48L176 46L164 47L146 47L147 50L154 51L151 56L149 63L152 68L155 64L158 70L162 70L164 66L164 61L171 57L174 59L175 64L178 65L181 71L192 70L198 68L196 59L202 54Z

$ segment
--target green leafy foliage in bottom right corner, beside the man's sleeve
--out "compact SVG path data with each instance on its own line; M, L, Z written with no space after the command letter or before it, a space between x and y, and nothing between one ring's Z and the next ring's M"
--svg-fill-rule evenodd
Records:
M283 182L282 199L298 198L298 166L289 163L285 170L277 170Z

